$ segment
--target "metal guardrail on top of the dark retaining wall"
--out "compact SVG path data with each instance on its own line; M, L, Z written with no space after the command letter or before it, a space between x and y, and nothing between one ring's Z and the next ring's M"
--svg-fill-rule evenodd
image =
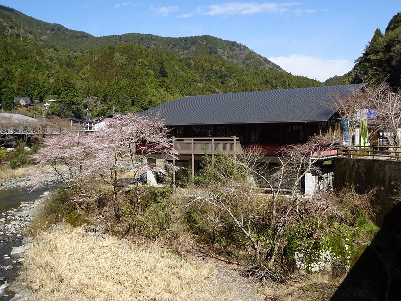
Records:
M340 145L338 155L347 158L401 160L401 146L346 146Z

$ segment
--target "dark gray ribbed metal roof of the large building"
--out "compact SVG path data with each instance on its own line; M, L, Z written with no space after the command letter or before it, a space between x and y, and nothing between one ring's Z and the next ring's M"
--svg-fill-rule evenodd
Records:
M141 115L165 125L327 121L331 104L365 84L186 96L148 109Z

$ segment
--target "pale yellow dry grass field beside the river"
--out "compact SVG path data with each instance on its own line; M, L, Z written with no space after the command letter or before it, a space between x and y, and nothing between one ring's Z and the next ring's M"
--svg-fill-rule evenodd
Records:
M202 261L82 233L58 226L34 239L26 268L37 300L242 299L217 284L213 268Z

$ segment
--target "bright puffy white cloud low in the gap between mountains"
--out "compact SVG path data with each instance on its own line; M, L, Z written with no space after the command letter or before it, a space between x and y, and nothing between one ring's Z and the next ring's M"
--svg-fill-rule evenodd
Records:
M347 60L323 60L299 54L292 54L288 57L269 57L268 59L293 75L307 76L322 82L334 75L343 75L353 67L353 62Z

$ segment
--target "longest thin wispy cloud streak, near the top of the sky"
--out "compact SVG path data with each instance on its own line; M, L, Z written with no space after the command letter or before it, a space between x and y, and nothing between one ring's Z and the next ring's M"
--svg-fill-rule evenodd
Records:
M193 15L209 15L209 16L234 16L234 15L254 15L254 14L290 14L302 15L314 13L314 10L304 10L300 8L302 4L298 2L229 2L223 4L213 4L209 6L199 6L195 12L183 14L179 18L188 18Z

